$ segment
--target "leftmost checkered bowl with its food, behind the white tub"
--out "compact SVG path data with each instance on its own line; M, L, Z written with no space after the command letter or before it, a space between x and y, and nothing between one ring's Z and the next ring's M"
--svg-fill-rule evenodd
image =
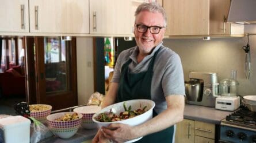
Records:
M30 117L34 117L40 122L46 122L46 117L51 114L52 106L47 104L29 105Z

